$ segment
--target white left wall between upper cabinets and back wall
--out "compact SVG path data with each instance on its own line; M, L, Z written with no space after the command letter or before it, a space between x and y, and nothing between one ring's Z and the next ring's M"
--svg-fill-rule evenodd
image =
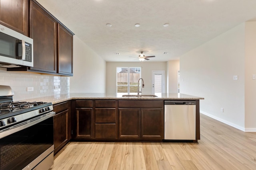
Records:
M74 35L71 93L105 93L106 62Z

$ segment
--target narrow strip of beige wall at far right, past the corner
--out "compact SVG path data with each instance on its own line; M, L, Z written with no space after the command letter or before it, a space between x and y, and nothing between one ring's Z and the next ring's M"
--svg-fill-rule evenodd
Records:
M256 131L256 21L245 23L245 128Z

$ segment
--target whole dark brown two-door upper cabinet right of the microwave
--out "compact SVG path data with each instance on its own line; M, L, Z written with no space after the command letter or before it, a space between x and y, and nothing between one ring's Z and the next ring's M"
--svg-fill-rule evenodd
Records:
M34 40L34 66L7 68L7 71L73 76L74 33L36 0L29 2L29 36Z

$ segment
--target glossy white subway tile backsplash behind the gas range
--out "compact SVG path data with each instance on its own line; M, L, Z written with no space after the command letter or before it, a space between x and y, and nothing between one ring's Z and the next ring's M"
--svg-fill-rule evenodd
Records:
M13 101L69 93L70 78L34 73L6 71L0 68L0 85L10 86ZM33 91L28 91L28 88Z

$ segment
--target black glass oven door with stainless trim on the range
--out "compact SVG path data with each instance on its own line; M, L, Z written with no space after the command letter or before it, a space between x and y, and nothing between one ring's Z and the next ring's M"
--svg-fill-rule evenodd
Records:
M11 130L2 132L0 136L0 170L32 169L44 160L53 164L53 115L25 123ZM6 135L8 131L15 131ZM4 136L4 137L3 137ZM48 158L48 157L52 158ZM49 169L50 167L44 167Z

